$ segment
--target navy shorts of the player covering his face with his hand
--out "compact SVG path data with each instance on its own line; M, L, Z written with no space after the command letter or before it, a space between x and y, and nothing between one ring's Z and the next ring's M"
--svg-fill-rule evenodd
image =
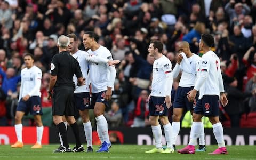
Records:
M191 87L178 87L175 92L173 108L182 108L185 111L194 110L196 107L196 101L198 100L199 92L197 92L194 102L189 102L187 99L187 93L194 89L194 86Z

